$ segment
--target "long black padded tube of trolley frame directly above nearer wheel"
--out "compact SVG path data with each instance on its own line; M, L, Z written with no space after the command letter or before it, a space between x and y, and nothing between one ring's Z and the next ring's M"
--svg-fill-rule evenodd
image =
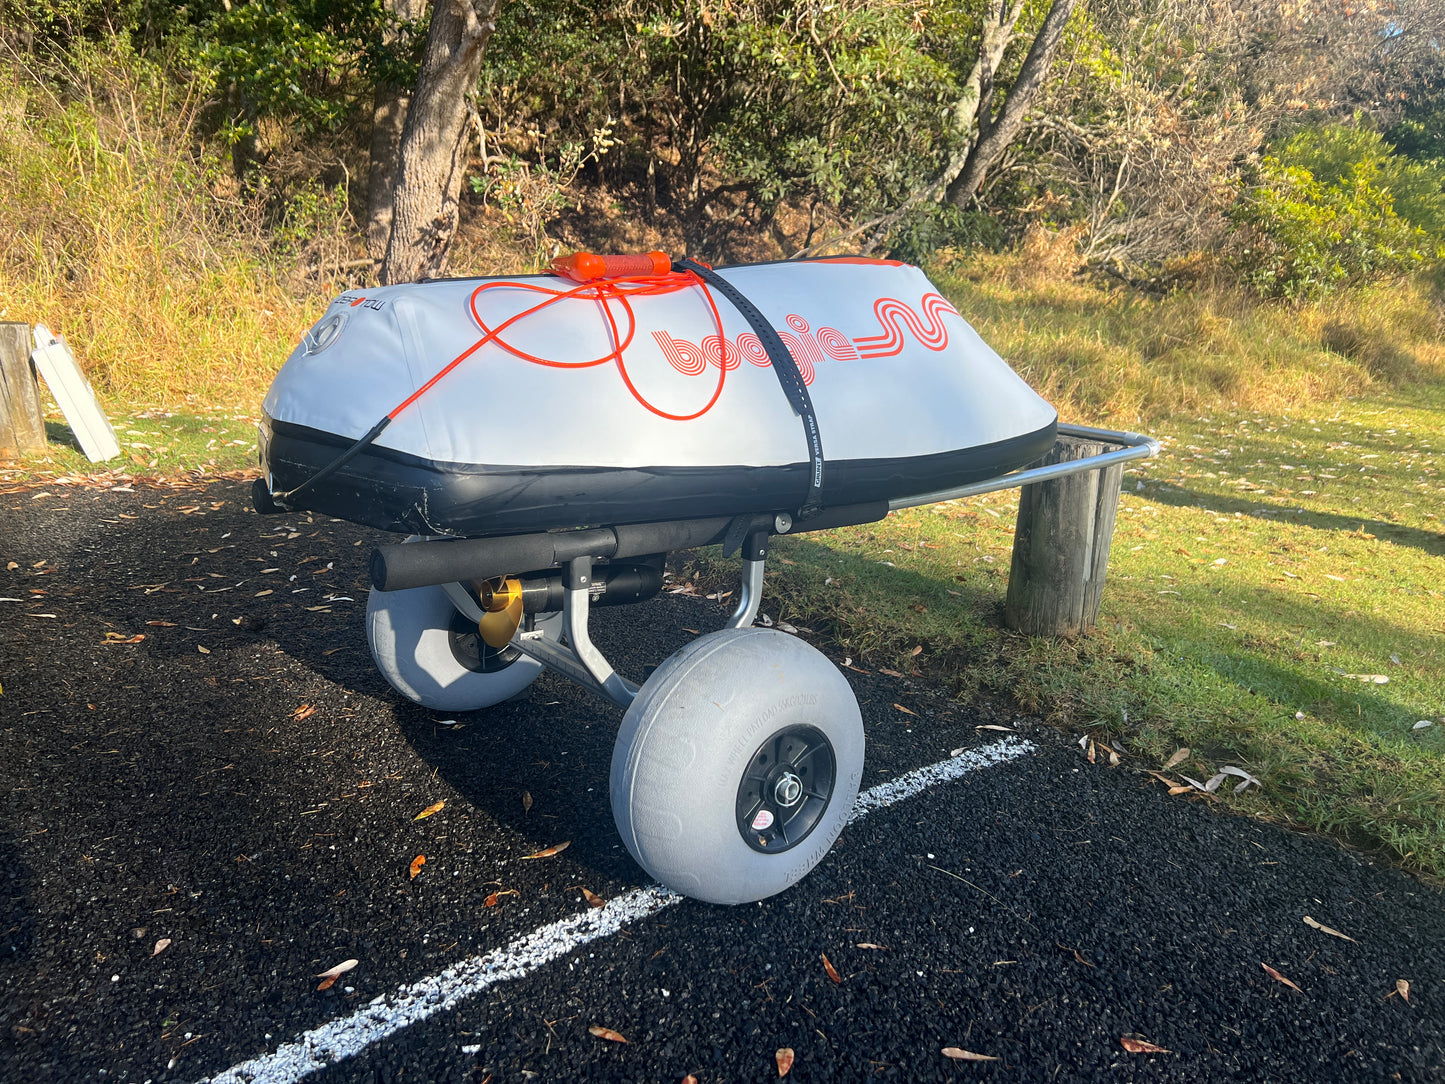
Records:
M798 532L873 523L887 513L884 500L825 509L801 525ZM775 532L773 516L756 515L750 519L750 532ZM371 585L379 591L402 591L536 572L579 556L623 559L695 549L721 542L731 525L730 517L714 516L536 535L396 542L371 551Z

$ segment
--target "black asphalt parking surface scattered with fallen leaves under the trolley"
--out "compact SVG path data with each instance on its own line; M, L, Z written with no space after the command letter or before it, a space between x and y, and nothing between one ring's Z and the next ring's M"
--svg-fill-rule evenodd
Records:
M543 675L444 718L376 674L381 538L240 481L0 493L0 1078L1445 1080L1436 887L866 659L883 789L818 869L649 892L617 708ZM724 613L594 639L642 678Z

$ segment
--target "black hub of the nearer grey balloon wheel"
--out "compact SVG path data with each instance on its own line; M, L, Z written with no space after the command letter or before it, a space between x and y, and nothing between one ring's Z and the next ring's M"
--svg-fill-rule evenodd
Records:
M769 737L737 788L737 830L754 851L780 854L818 827L838 775L832 743L818 727Z

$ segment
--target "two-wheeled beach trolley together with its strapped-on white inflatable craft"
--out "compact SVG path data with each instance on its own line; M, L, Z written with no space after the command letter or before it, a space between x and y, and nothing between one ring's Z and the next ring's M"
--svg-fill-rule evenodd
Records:
M1058 432L1123 447L1020 470ZM575 253L337 298L266 396L254 500L406 535L371 554L367 640L407 700L480 710L548 668L626 708L627 850L741 903L827 854L863 775L844 676L751 627L770 538L1155 448L1061 426L918 267ZM652 598L668 554L711 543L741 555L725 627L642 687L614 672L591 608Z

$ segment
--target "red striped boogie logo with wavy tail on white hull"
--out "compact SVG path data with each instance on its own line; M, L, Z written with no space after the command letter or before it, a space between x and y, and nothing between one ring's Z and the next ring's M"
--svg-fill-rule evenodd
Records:
M779 331L788 353L798 363L803 383L811 384L816 376L815 366L824 358L834 361L857 361L860 358L896 357L903 353L903 330L907 328L919 343L929 350L942 350L948 345L948 328L944 327L944 314L959 317L958 309L948 304L941 293L925 293L920 302L923 315L910 305L905 305L894 298L879 298L873 302L873 314L879 318L883 332L879 335L861 335L848 338L837 328L822 327L811 331L808 321L799 315L788 315L788 327L798 334ZM662 347L668 363L683 376L699 376L708 366L722 366L737 369L744 358L760 369L772 364L763 341L751 331L744 331L736 340L724 335L708 335L701 343L691 343L685 338L673 338L666 331L653 331L652 337Z

